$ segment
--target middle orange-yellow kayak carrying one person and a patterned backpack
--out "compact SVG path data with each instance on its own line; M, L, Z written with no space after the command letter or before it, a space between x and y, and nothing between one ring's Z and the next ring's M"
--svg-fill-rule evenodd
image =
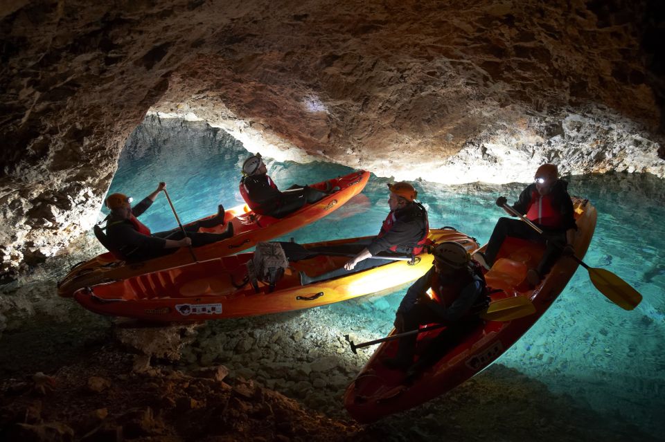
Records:
M302 248L339 246L366 238L303 244ZM470 251L478 247L475 239L452 228L430 230L429 239L457 241ZM214 320L308 309L349 300L407 284L432 266L432 255L424 252L414 263L391 261L351 275L302 285L301 272L315 277L342 268L348 261L346 255L318 255L290 262L272 293L260 282L257 293L249 283L241 286L247 277L247 261L253 256L254 253L242 253L98 284L79 289L74 298L86 309L103 315L152 322Z

